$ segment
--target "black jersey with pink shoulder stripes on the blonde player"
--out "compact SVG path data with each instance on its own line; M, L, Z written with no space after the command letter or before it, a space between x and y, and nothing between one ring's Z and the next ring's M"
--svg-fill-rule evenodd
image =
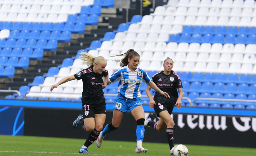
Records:
M74 74L76 80L83 81L83 93L82 93L82 102L85 99L91 98L91 97L99 97L103 96L103 79L102 77L108 75L108 70L105 69L101 74L96 74L93 72L93 66L90 66L89 68L83 69L79 71L78 73Z

